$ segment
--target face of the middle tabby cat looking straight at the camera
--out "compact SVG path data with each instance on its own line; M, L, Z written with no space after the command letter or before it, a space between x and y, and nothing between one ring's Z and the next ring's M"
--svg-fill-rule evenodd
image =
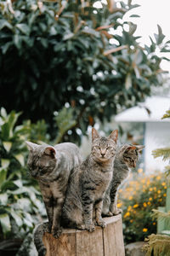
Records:
M92 130L92 154L94 159L105 162L116 155L116 140L118 131L112 131L109 137L99 137L97 131Z

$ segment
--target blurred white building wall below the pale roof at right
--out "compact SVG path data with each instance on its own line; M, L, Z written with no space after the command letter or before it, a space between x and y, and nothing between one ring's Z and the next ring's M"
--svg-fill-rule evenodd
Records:
M144 166L145 172L154 172L164 170L168 161L162 161L162 158L154 158L152 150L156 148L170 147L170 123L169 122L150 122L145 124L144 137Z

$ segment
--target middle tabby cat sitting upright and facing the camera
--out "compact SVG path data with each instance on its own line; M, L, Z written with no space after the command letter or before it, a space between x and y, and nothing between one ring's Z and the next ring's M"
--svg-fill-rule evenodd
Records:
M117 137L117 130L112 131L109 137L99 137L98 132L92 129L91 153L74 168L69 179L62 212L65 227L89 232L94 231L94 224L105 228L101 210L105 190L112 178Z

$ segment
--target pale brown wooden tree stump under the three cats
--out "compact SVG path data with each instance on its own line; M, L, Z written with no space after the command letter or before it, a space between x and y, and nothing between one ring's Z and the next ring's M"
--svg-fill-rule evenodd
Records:
M45 233L46 256L124 256L122 215L104 219L107 224L105 229L96 227L93 233L65 229L59 239Z

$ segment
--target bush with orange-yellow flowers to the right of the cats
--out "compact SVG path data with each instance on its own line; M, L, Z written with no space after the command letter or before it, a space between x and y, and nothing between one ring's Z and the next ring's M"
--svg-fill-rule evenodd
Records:
M153 208L165 205L167 183L159 172L146 175L142 169L131 173L126 185L119 189L118 207L123 210L122 223L125 241L144 241L156 233L156 218L150 215Z

